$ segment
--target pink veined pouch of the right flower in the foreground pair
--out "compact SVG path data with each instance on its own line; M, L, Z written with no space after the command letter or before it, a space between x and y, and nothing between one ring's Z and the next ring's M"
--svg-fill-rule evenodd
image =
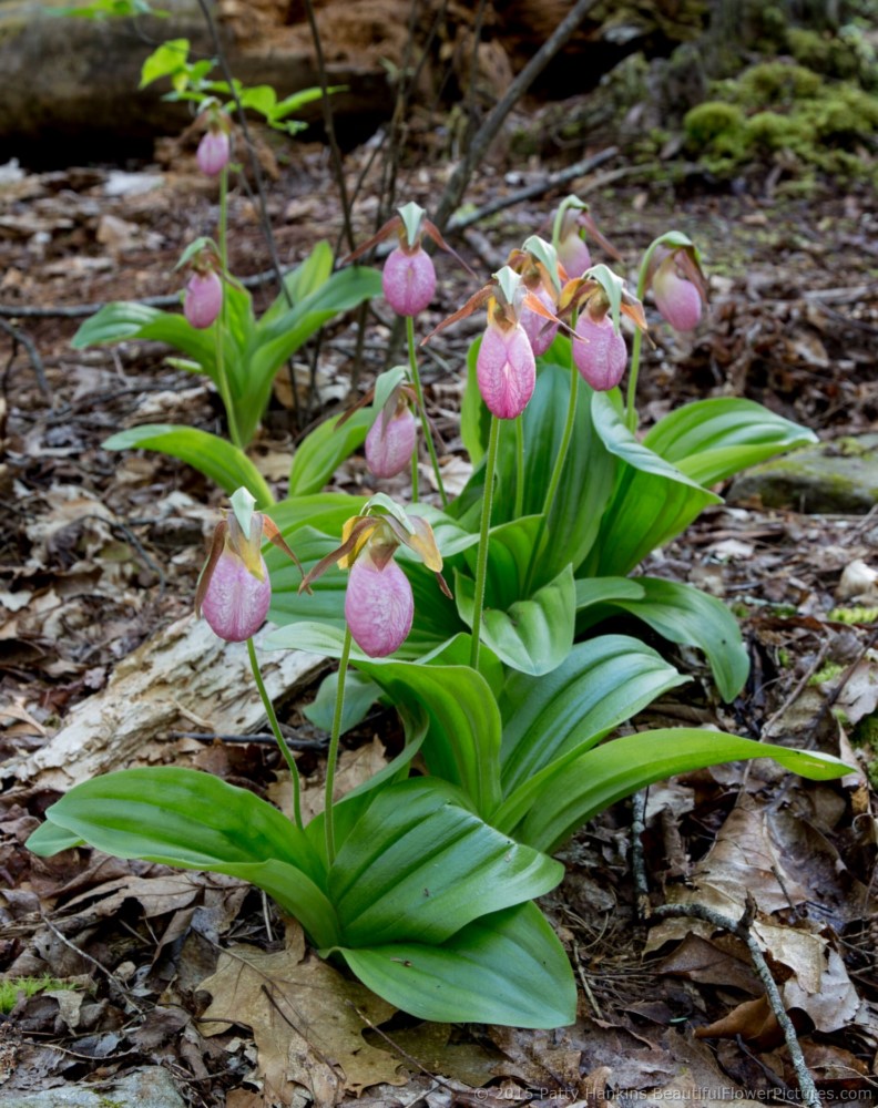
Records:
M392 557L382 570L368 552L357 558L348 577L345 618L354 642L370 658L385 658L405 643L415 618L415 598Z

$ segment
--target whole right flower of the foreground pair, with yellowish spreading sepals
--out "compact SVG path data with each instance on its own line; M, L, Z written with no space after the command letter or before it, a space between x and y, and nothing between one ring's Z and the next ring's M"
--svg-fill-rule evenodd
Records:
M442 592L451 595L442 579L442 556L432 529L379 493L366 504L363 515L347 521L341 540L341 545L305 576L302 588L336 563L349 570L345 619L351 637L370 658L386 658L406 642L415 618L411 585L394 561L399 546L414 551L433 571Z

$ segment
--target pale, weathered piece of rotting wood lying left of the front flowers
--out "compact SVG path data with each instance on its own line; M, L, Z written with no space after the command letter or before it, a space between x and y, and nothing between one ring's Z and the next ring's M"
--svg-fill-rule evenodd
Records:
M265 630L256 636L258 648ZM324 659L298 650L261 653L273 700L312 680ZM246 733L265 712L245 643L224 643L205 620L186 616L149 639L119 664L108 686L70 712L41 749L7 762L21 783L67 791L124 769L147 745L191 729L198 719L217 733Z

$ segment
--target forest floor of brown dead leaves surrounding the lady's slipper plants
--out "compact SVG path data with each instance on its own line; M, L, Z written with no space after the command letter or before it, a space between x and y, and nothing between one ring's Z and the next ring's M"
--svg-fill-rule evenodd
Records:
M547 899L581 985L579 1022L552 1033L401 1016L380 1028L354 1020L339 1032L344 983L328 1004L325 989L309 987L314 961L300 936L288 926L284 938L284 922L247 886L91 850L47 860L23 848L59 794L58 776L35 769L37 756L78 706L106 691L135 648L194 618L205 540L223 500L171 459L101 447L110 434L144 422L217 430L221 404L202 378L169 366L154 343L73 351L82 315L28 312L174 295L180 280L172 270L182 249L214 233L217 212L216 186L197 175L191 155L181 153L172 168L130 175L69 168L10 174L0 183L0 305L18 312L0 316L7 509L0 970L7 981L48 974L75 986L20 998L3 1019L0 1104L4 1096L53 1089L62 1104L62 1090L80 1081L110 1104L120 1078L156 1066L198 1108L304 1105L312 1094L317 1102L359 1095L360 1105L381 1108L596 1105L608 1090L623 1101L795 1099L789 1055L741 940L693 921L651 925L639 917L630 803L566 848L566 880ZM355 205L360 239L374 229L370 188L379 187L368 158L364 148L348 160L351 184L365 174ZM589 199L629 273L655 235L676 227L702 248L711 275L709 309L694 335L654 329L641 392L644 423L698 397L744 396L821 439L875 430L874 195L826 186L807 201L789 199L758 185L681 194L617 170L611 163L569 191ZM467 199L478 207L545 172L539 164L486 166ZM404 168L400 202L415 199L429 211L447 173L441 160ZM283 264L299 260L319 238L336 245L336 195L325 152L298 147L269 186ZM561 195L511 206L455 246L487 277L527 235L545 233ZM232 270L241 277L266 270L256 209L238 189L229 226ZM440 256L438 266L437 302L419 321L425 331L473 291L450 258ZM266 284L254 295L259 307L275 293ZM385 312L381 305L377 310ZM459 478L466 460L456 420L466 343L478 326L473 320L438 336L423 370L447 448L443 465ZM389 335L380 319L370 318L368 328L360 389L382 368ZM324 337L314 363L323 410L351 402L355 346L350 324ZM299 386L307 383L313 353L305 351L296 367ZM253 451L278 495L295 442L290 396L282 375ZM335 485L358 491L369 481L354 458ZM405 495L404 481L396 491ZM748 502L708 510L650 564L653 573L698 584L733 605L752 676L734 704L722 705L703 659L677 653L695 680L637 724L770 733L841 752L859 767L829 784L780 779L762 762L721 767L651 789L646 809L654 904L690 900L734 915L743 911L745 891L754 896L760 942L827 1100L866 1099L878 1083L878 802L866 750L850 746L853 730L868 732L870 716L874 725L877 656L865 616L830 615L851 603L845 570L858 560L874 565L876 545L876 512L805 515L795 506ZM864 589L866 599L854 603L874 608L878 601ZM300 708L325 671L320 667L280 709L285 724L315 740L325 737L308 730ZM214 738L211 720L210 702L197 714L177 714L129 763L197 766L276 796L283 773L273 748L246 737ZM380 763L392 730L392 720L378 716L347 737L351 781ZM319 742L303 748L299 765L308 789L320 789ZM270 963L272 982L283 1004L266 1005L257 985L245 999L227 975L205 987L221 953L244 943L279 960ZM211 1018L203 1022L208 1004Z

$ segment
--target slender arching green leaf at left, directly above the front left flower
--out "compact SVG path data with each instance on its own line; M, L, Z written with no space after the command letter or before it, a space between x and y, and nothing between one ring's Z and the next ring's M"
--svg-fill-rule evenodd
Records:
M265 478L244 451L210 431L173 423L143 423L111 435L102 447L104 450L156 450L186 462L229 495L243 485L261 510L274 503Z

